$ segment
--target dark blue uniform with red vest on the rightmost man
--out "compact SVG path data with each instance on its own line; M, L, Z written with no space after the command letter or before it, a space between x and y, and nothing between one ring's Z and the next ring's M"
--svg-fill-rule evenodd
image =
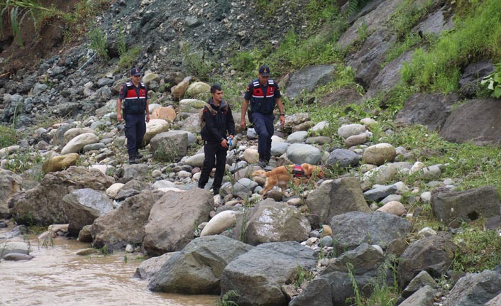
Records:
M259 136L259 160L265 160L266 163L271 158L271 136L275 133L273 109L275 109L276 100L280 97L282 94L280 94L278 84L271 79L268 80L266 86L261 85L258 79L253 80L248 84L246 94L243 97L251 102L251 122Z

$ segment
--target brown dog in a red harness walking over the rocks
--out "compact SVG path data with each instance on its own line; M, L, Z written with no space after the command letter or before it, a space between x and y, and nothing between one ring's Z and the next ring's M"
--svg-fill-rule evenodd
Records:
M299 173L299 176L295 175L299 170L302 170L302 173ZM252 175L267 177L265 188L261 192L261 197L263 197L266 192L270 191L274 186L280 187L282 189L282 195L287 196L285 190L291 181L294 186L310 181L314 182L316 185L316 180L319 177L324 177L325 173L320 166L303 163L300 167L299 165L281 165L268 172L265 170L256 170Z

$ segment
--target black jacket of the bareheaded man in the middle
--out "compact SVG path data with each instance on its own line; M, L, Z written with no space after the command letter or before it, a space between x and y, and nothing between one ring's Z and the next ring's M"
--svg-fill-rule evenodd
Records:
M207 106L204 107L203 119L205 125L200 134L204 141L220 143L226 138L226 131L228 131L229 135L235 134L235 121L233 120L230 106L226 103L226 100L221 100L219 106L216 106L212 102L212 98L209 99L207 103L211 105L215 113L212 114Z

